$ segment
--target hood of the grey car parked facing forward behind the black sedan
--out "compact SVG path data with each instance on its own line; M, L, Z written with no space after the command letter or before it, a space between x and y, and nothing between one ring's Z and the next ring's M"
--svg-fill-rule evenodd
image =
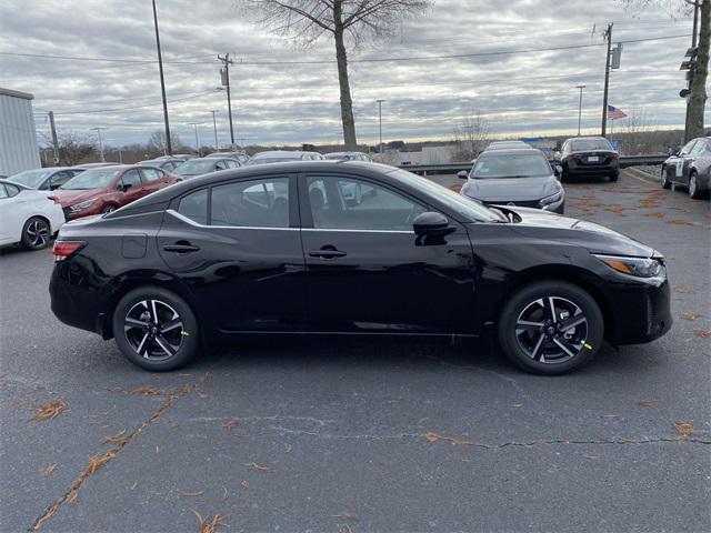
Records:
M492 178L469 179L462 187L462 194L482 202L534 201L555 194L561 190L553 175L542 178Z

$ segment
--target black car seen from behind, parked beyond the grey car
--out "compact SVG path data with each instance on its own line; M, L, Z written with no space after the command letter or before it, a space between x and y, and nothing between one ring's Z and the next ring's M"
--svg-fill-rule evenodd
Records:
M554 159L563 168L562 181L578 175L607 175L610 181L620 178L620 154L604 137L568 139Z

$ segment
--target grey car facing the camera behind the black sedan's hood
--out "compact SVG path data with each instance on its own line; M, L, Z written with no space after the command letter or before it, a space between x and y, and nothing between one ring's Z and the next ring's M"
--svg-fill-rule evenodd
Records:
M565 211L565 191L559 181L560 168L551 168L543 152L532 148L482 152L470 172L457 175L467 180L460 193L480 202Z

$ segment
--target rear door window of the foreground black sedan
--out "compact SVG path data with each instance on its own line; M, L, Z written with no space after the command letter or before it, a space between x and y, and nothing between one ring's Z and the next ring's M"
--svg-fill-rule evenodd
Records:
M212 188L210 223L289 228L289 179L268 178Z

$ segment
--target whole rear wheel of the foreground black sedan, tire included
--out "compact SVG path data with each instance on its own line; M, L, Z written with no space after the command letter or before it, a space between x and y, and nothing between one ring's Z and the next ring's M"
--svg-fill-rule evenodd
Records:
M194 313L182 298L160 286L140 286L124 294L113 311L112 326L121 353L153 372L179 369L200 349Z

